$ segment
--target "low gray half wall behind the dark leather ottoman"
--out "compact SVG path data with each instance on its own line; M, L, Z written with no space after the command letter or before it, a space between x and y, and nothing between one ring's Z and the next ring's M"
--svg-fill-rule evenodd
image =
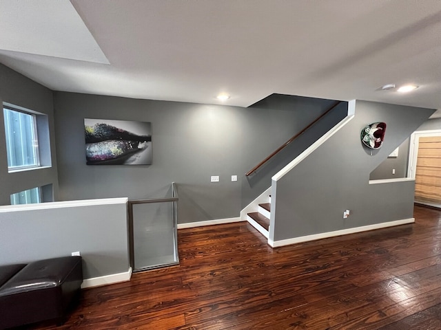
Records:
M9 206L11 208L11 206ZM65 208L0 210L0 265L83 256L83 277L129 269L126 203Z

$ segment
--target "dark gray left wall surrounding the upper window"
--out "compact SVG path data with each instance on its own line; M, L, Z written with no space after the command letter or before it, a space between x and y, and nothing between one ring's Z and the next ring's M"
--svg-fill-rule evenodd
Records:
M0 64L0 101L48 115L52 167L8 173L5 126L0 112L0 205L10 204L10 195L37 186L52 184L58 193L57 156L54 142L52 91Z

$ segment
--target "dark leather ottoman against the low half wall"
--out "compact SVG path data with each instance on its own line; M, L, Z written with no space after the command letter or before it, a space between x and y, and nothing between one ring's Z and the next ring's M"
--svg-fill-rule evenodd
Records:
M3 285L5 277L17 270ZM83 283L81 256L0 267L0 329L54 319L65 320Z

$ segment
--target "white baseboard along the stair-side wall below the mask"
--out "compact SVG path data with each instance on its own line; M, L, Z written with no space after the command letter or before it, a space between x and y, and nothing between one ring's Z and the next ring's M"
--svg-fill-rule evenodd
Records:
M271 239L268 239L268 244L269 246L271 246L271 248L278 248L279 246L291 245L291 244L302 243L307 241L314 241L316 239L327 239L328 237L354 234L356 232L367 232L368 230L393 227L394 225L404 225L407 223L414 223L414 222L415 222L415 218L409 218L409 219L402 219L402 220L389 221L383 223L376 223L375 225L364 225L362 227L336 230L335 232L322 232L320 234L294 237L292 239L283 239L280 241L272 241Z

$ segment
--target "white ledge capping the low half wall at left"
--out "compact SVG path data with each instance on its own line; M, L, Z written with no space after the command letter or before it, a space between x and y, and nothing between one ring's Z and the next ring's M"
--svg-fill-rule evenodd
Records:
M125 204L129 199L127 197L103 198L103 199L83 199L78 201L52 201L49 203L23 204L23 205L5 205L0 206L0 213L14 211L30 210L48 210L51 208L74 208L77 206L94 206Z

